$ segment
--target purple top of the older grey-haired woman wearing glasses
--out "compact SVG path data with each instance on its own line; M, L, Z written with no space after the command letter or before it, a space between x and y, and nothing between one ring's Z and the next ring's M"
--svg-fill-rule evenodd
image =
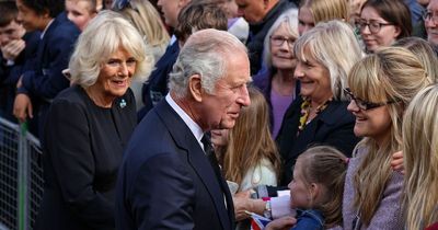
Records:
M286 110L295 99L292 95L280 95L274 89L270 91L270 103L273 106L274 126L273 137L276 138L281 127L283 116L285 116Z

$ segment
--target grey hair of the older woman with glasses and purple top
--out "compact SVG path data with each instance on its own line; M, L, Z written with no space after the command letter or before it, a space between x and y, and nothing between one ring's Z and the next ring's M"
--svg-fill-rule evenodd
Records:
M298 9L292 8L278 16L278 19L274 22L273 26L270 26L269 31L266 34L265 41L263 43L263 62L268 68L273 67L273 58L270 51L270 36L283 25L286 24L287 32L290 36L296 38L299 37L298 34Z

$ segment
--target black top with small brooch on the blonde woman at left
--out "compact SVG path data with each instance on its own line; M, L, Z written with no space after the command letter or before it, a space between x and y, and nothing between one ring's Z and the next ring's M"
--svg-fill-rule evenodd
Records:
M55 99L47 120L36 229L114 229L117 172L137 124L132 92L103 108L76 85Z

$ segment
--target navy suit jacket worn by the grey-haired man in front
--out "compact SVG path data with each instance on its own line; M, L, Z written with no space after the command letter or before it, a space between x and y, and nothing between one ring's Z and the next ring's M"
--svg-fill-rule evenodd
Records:
M118 176L119 230L234 229L227 183L165 100L136 128Z

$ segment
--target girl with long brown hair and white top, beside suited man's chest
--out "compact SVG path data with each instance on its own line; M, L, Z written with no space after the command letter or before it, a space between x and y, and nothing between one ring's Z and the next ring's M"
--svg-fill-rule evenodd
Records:
M266 100L255 88L249 88L249 94L251 105L242 110L235 126L230 130L211 131L211 142L222 165L222 174L227 181L237 183L235 192L258 185L276 186L280 173L281 162L269 133ZM235 216L238 220L244 220L247 214L242 210ZM238 229L250 229L249 222L240 221Z

